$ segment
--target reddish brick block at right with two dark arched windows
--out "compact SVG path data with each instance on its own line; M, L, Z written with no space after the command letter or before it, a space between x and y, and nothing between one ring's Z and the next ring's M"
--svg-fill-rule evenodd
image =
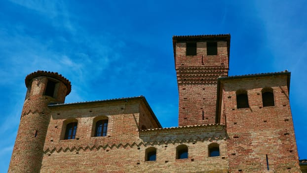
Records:
M230 172L300 172L287 82L287 74L221 81ZM275 106L263 107L264 87L273 89ZM239 89L249 108L237 109Z

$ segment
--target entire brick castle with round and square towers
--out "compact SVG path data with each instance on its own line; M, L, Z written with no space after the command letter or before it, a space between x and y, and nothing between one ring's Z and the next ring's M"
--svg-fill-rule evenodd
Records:
M144 96L64 103L69 80L37 71L8 172L301 173L290 72L228 76L229 34L173 47L179 127L162 128Z

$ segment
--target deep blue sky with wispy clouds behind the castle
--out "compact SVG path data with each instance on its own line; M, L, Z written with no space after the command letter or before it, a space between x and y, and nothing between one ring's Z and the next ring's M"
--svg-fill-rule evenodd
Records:
M178 126L173 35L230 34L229 74L291 72L297 146L307 159L306 0L1 0L0 172L8 169L24 79L59 72L66 102L144 95L163 127Z

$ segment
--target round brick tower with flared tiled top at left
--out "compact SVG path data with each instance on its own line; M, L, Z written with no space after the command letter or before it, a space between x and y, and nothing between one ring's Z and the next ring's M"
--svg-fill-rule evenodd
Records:
M50 121L48 104L64 103L71 83L62 75L37 71L25 79L28 88L9 173L39 173Z

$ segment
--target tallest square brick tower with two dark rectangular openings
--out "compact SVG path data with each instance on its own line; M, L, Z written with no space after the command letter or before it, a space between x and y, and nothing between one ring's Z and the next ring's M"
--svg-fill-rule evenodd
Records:
M230 35L173 37L179 126L215 124L217 79L227 77Z

